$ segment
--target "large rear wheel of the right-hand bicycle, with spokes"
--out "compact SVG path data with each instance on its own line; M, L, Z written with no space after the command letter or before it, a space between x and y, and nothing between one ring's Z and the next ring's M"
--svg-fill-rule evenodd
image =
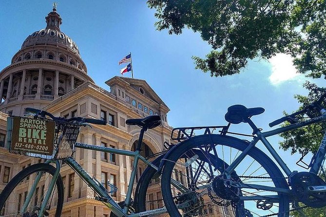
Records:
M287 195L249 187L249 184L258 184L288 189L282 172L258 148L250 149L230 177L223 175L248 145L230 136L201 135L175 146L165 159L161 182L170 215L288 217ZM176 189L171 178L183 184L186 190Z

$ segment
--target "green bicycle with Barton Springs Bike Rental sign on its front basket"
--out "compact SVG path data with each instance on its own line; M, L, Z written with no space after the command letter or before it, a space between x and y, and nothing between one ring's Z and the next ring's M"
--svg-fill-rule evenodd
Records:
M144 132L159 126L161 124L160 116L153 115L126 121L127 125L141 127L136 150L127 151L76 143L80 127L90 126L89 123L106 125L105 121L82 117L64 119L33 108L27 108L26 112L28 115L33 115L34 118L8 117L8 148L11 153L47 160L45 163L37 163L24 168L5 186L0 194L0 210L4 212L5 216L49 216L50 209L53 208L51 205L55 205L55 211L51 212L55 213L55 217L59 217L64 198L64 187L59 174L60 161L68 164L95 191L96 200L103 202L112 210L110 217L154 216L167 212L165 208L148 209L147 203L149 201L146 200L146 192L162 156L151 163L140 155ZM50 117L50 119L46 117ZM37 139L39 145L31 145L33 139ZM108 191L76 162L72 157L74 147L134 157L125 201L116 203L111 194L116 192L117 188L108 181L107 184L111 187L111 191ZM133 204L132 190L139 160L146 163L150 168L147 168L140 178L141 181L138 181ZM56 164L56 167L50 163ZM27 179L28 183L31 184L30 186L25 186ZM54 201L56 199L57 201Z

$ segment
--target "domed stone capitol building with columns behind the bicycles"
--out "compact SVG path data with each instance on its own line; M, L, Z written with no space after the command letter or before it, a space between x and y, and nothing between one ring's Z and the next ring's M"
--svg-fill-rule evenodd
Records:
M145 80L115 76L105 82L110 91L100 88L88 75L75 41L61 31L62 18L56 8L45 21L46 26L27 36L11 64L0 72L0 191L23 168L44 162L10 154L5 148L7 116L22 116L28 107L65 118L106 120L106 126L82 127L77 142L125 150L134 150L140 132L139 127L127 126L125 121L157 114L162 124L145 133L143 155L148 157L164 150L164 142L175 143L170 139L173 128L167 119L170 109ZM131 157L81 148L76 148L73 156L92 177L98 181L110 180L117 186L113 199L125 199L132 171ZM134 189L145 168L140 163ZM110 216L109 208L95 200L94 191L69 166L62 164L60 174L65 186L62 217ZM21 184L21 197L31 183L32 180L26 180ZM156 203L154 208L160 207L159 181L152 181L149 194ZM50 216L53 213L54 209L50 210ZM0 211L0 216L6 215L6 210ZM218 215L212 213L212 216Z

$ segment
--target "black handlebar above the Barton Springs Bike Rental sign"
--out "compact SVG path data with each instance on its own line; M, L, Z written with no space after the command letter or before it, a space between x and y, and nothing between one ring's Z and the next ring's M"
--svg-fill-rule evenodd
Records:
M66 121L66 122L71 122L71 121L77 121L79 123L90 123L90 124L96 124L96 125L106 125L106 121L98 120L98 119L93 119L93 118L83 118L83 117L73 117L69 119L61 118L61 117L55 117L51 113L39 109L34 109L34 108L26 108L26 112L34 113L35 115L40 115L42 117L45 117L45 115L49 116L52 118L54 121Z

